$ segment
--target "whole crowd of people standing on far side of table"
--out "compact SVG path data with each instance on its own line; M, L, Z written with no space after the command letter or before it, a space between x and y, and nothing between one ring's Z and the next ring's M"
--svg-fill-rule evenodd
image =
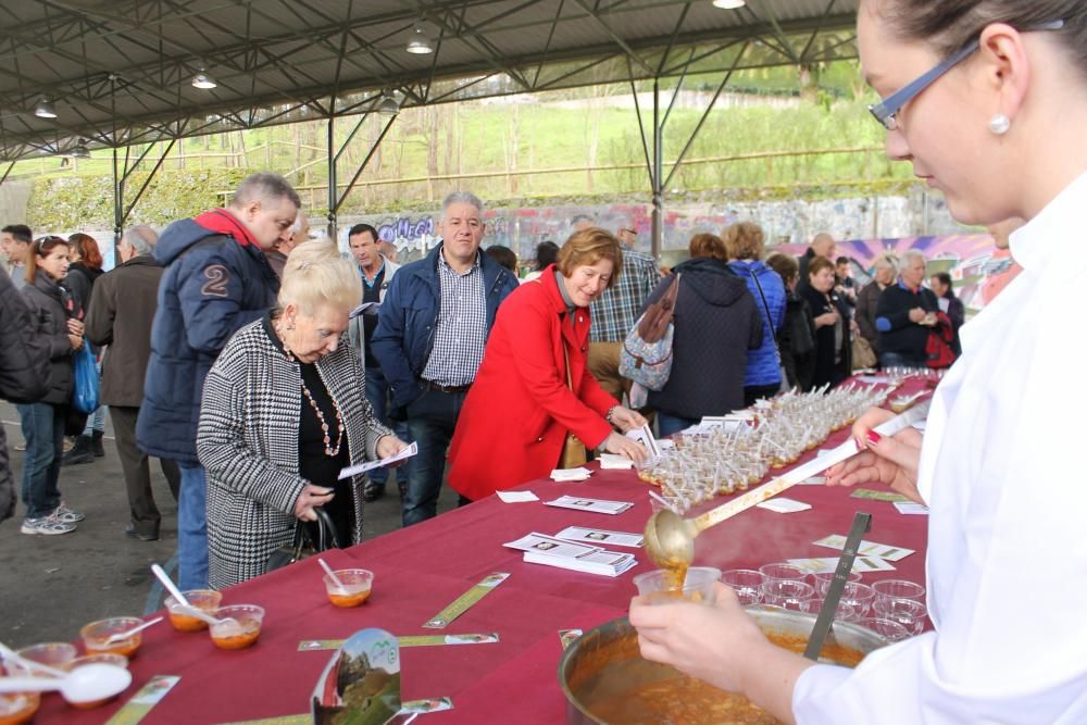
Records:
M854 334L885 365L924 365L934 318L948 316L955 335L962 324L948 279L922 286L920 254L903 258L901 274L880 257L858 292L827 234L799 259L767 257L762 229L740 222L694 236L690 260L661 270L636 250L632 218L582 215L518 278L511 250L482 248L484 203L472 193L443 200L440 242L407 264L368 224L348 230L346 255L308 241L299 207L282 177L254 174L226 209L161 237L128 229L108 273L86 234L34 239L4 227L10 282L22 288L10 297L32 321L17 326L22 349L48 353L33 363L48 370L48 388L8 396L27 447L23 533L66 534L84 518L61 497L60 470L104 453L107 410L130 509L124 533L160 536L157 458L177 500L179 583L222 587L265 571L317 510L337 542L359 541L363 504L392 473L340 482L338 472L408 442L417 453L396 473L404 526L436 515L445 483L464 504L591 451L640 460L647 451L623 434L653 418L670 435L782 389L833 387L851 373ZM621 353L669 290L671 374L635 410ZM86 416L72 405L84 345L100 361L102 403ZM496 458L496 447L524 454Z

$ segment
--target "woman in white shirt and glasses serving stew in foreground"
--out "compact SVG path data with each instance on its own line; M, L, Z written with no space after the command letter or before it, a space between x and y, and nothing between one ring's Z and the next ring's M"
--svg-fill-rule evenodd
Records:
M961 222L1029 220L1023 273L962 330L922 442L880 439L828 483L879 480L930 508L934 632L855 670L767 642L730 590L713 608L632 604L642 654L745 692L786 722L1087 722L1087 3L862 0L858 40L887 152ZM890 514L895 515L895 514Z

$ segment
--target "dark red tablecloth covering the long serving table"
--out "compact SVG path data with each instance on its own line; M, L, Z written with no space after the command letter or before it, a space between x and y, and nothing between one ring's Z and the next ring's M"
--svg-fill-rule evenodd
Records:
M840 432L824 447L840 442ZM496 454L513 454L496 451ZM617 578L526 564L503 541L529 532L555 534L569 525L640 532L651 513L646 485L633 472L597 471L576 484L533 482L525 487L541 500L565 492L633 501L623 514L608 516L545 507L502 503L491 497L408 529L352 549L324 554L334 567L361 566L375 575L371 599L361 608L333 608L322 572L313 560L247 582L225 592L224 603L254 603L267 610L259 643L249 650L215 649L208 634L179 634L160 625L145 633L132 662L133 686L126 700L153 675L179 675L175 686L145 722L222 723L290 715L308 711L309 696L330 651L298 651L302 639L342 639L365 627L396 635L497 632L499 643L414 647L401 651L405 700L449 696L453 710L426 715L427 723L559 723L565 704L557 678L559 629L588 630L626 613L635 589L632 577L648 571L645 552L638 565ZM897 571L869 573L879 578L924 583L927 516L903 515L891 503L850 497L850 490L797 486L786 496L813 504L800 513L752 509L702 534L696 564L722 570L802 557L833 557L812 541L845 535L854 512L873 514L866 539L915 549ZM720 503L717 499L702 509ZM701 509L700 509L701 510ZM491 572L510 578L446 629L422 624ZM90 712L68 709L55 695L43 697L38 723L104 722L120 701Z

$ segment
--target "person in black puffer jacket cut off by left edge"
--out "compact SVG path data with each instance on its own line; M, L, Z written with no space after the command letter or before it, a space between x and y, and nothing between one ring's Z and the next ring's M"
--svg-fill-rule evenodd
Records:
M30 313L11 277L0 270L0 397L33 403L46 395L49 347L30 334ZM8 440L0 426L0 521L15 513L15 483L8 465Z

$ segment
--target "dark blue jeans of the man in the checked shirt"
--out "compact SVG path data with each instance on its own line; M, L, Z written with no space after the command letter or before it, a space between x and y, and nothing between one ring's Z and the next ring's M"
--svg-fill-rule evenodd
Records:
M408 405L408 432L418 454L408 472L403 525L411 526L438 513L438 495L446 472L446 450L467 392L427 390Z

